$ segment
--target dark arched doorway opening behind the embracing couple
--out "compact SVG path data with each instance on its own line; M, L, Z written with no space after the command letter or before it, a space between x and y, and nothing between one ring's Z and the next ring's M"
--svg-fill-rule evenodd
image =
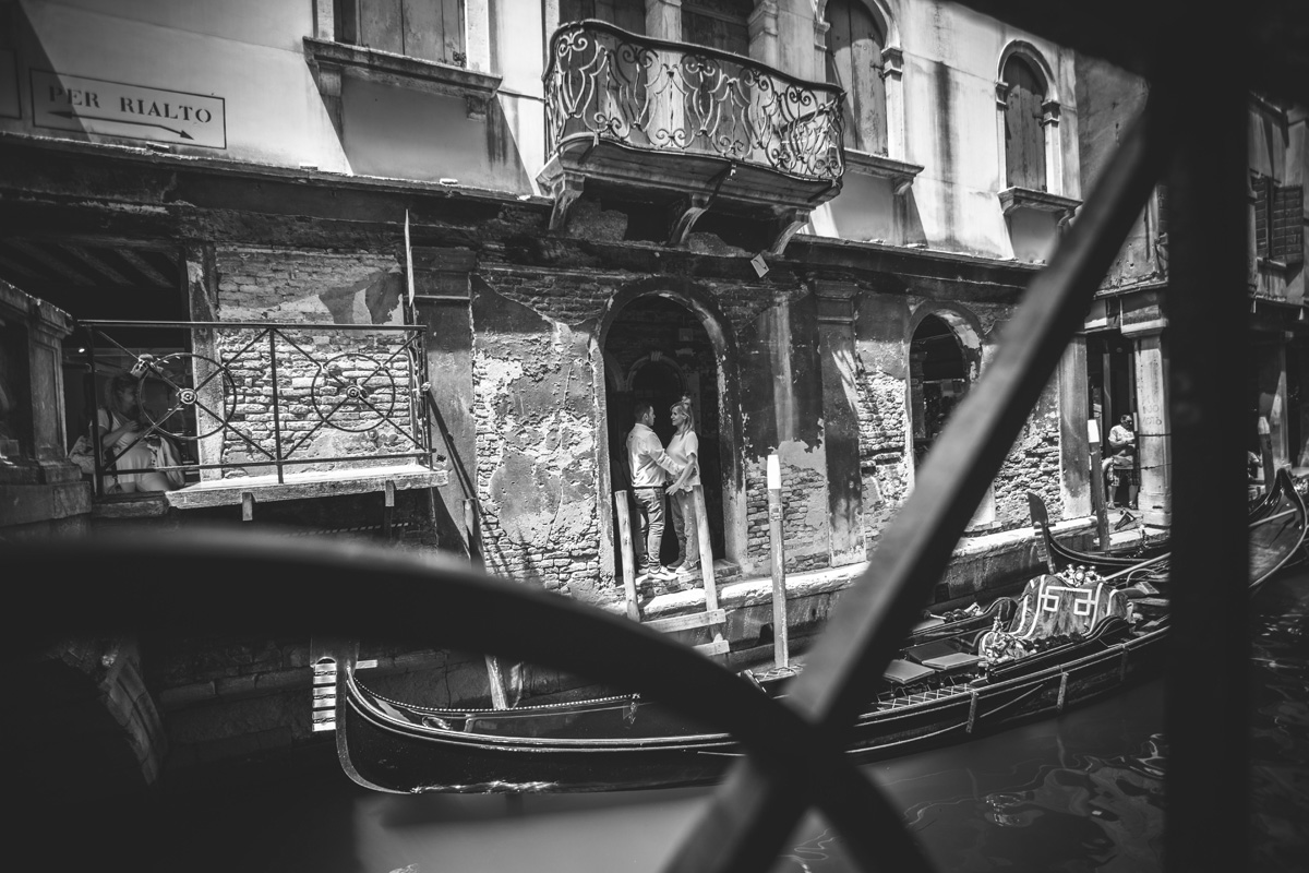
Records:
M724 500L720 373L715 344L700 317L689 306L658 294L637 297L614 317L605 336L606 424L609 471L614 491L627 490L627 435L637 403L654 406L654 433L668 445L673 437L669 407L683 394L691 398L695 432L700 438L700 482L709 517L709 542L723 558ZM636 520L635 505L630 513ZM636 531L634 530L634 537ZM614 572L622 573L622 550L615 526ZM664 531L660 558L677 558L672 518Z

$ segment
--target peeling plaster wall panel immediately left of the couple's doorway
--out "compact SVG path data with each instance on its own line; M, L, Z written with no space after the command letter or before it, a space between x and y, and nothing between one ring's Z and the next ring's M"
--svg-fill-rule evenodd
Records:
M589 331L474 294L476 487L487 569L584 599L600 585Z

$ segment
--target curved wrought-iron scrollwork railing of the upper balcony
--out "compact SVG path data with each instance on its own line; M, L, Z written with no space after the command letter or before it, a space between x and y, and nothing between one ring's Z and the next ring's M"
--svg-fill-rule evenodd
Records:
M551 151L589 137L813 181L844 171L840 89L749 58L579 21L550 41L545 82Z

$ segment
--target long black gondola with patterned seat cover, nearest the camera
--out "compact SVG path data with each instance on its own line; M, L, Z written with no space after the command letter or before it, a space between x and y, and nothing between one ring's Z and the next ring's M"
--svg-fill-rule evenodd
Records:
M1250 586L1305 541L1305 504L1291 476L1250 529ZM1046 717L1158 675L1168 599L1139 585L1136 565L1100 573L1069 567L948 616L929 616L888 665L847 754L859 762L965 741ZM952 620L953 619L953 620ZM346 774L398 793L597 792L716 781L742 753L639 695L512 709L403 703L336 669L336 749ZM785 696L788 671L749 674Z

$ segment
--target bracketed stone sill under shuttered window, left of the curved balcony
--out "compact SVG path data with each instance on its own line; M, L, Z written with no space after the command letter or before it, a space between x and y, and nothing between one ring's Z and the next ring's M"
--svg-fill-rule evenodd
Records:
M462 97L467 101L470 118L486 118L487 107L500 89L500 76L452 64L313 37L305 37L304 42L305 59L314 72L318 90L331 99L340 99L340 77L350 73L367 81Z

